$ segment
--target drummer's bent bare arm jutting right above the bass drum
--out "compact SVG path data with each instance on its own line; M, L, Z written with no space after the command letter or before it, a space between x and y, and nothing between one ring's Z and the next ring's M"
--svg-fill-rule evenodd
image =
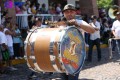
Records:
M77 27L80 27L81 29L83 29L84 31L88 32L88 33L94 33L95 29L89 25L88 23L84 22L84 24L75 24Z

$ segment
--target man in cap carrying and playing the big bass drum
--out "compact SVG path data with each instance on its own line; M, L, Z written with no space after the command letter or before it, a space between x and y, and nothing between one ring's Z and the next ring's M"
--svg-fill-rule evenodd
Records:
M65 21L69 25L74 25L75 27L82 29L88 33L95 32L95 29L92 26L90 26L87 22L83 20L75 19L76 9L73 4L65 5L62 12L64 15L64 18L62 21ZM79 73L77 73L75 76L69 75L69 74L66 75L65 73L62 73L62 76L65 78L65 80L78 80Z

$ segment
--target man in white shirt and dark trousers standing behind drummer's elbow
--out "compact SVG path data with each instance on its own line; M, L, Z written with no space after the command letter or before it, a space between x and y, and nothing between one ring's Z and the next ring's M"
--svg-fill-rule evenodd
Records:
M88 62L92 61L92 50L94 45L97 47L97 57L98 61L101 60L101 48L100 48L100 23L97 21L97 17L95 15L91 16L92 22L90 25L94 27L96 30L94 33L90 34L90 43L89 43L89 50L88 50Z

